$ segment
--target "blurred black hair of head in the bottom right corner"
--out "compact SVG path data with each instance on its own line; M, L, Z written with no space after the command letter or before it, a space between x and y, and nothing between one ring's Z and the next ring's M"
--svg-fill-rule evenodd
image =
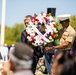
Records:
M74 59L66 61L60 75L76 75L76 61Z

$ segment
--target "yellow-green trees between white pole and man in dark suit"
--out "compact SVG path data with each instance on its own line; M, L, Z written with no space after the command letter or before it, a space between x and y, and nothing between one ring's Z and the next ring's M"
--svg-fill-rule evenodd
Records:
M12 28L5 26L5 43L8 45L15 44L21 40L21 31L24 29L23 24L15 24Z

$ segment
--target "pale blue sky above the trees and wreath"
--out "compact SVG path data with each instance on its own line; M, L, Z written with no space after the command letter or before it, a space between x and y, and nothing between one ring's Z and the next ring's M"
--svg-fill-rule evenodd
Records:
M23 23L26 15L47 12L47 8L56 8L56 18L60 14L76 15L76 0L6 0L6 25L12 27ZM0 0L1 23L2 0Z

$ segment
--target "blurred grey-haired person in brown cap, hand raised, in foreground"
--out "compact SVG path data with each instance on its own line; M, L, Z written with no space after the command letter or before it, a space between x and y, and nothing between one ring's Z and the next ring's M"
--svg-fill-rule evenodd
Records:
M4 63L2 75L7 75L13 71L13 75L33 75L32 65L32 48L26 44L17 43L14 50L9 53L10 59Z

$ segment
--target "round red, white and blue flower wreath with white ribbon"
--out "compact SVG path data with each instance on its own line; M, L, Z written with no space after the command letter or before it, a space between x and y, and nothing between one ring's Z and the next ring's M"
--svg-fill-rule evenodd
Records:
M39 25L45 25L44 34L39 31ZM45 46L53 41L55 34L57 34L55 21L51 15L45 13L35 15L26 28L27 39L34 46Z

